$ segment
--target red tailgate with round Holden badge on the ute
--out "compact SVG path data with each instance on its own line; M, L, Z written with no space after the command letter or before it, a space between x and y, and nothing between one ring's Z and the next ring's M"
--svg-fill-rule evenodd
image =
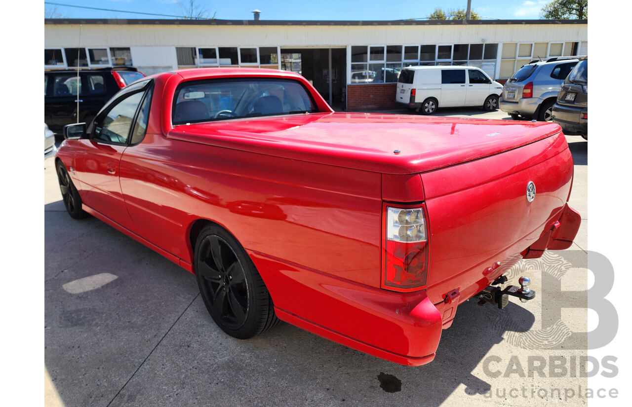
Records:
M422 174L430 230L427 294L434 304L457 288L459 302L501 274L494 262L520 258L561 215L573 158L557 133L513 150ZM527 199L533 182L535 199Z

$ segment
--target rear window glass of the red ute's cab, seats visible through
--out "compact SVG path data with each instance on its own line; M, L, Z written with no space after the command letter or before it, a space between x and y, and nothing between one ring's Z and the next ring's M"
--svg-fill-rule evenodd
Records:
M234 78L192 81L176 90L173 124L317 111L295 80Z

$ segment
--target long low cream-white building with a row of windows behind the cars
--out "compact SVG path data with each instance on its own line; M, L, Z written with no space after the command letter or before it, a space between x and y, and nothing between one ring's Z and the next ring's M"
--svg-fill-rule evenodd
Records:
M403 66L523 64L588 53L587 20L44 20L44 68L248 66L300 72L330 103L387 109ZM79 56L79 58L77 58ZM330 74L331 73L331 81Z

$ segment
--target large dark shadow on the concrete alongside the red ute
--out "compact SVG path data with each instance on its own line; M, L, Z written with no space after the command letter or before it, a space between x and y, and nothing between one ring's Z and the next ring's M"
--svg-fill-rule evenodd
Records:
M45 363L67 407L200 399L215 406L439 406L459 388L461 401L489 391L490 380L473 370L506 333L525 333L535 321L513 303L499 310L466 302L443 331L435 360L421 367L284 322L234 339L212 321L192 274L95 218L72 220L63 208L61 201L44 207ZM68 291L69 283L105 274L114 280Z

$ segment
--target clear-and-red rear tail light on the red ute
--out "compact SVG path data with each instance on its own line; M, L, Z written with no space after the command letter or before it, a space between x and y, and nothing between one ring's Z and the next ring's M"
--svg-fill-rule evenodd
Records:
M399 292L421 290L428 283L428 221L425 207L385 208L382 288Z

